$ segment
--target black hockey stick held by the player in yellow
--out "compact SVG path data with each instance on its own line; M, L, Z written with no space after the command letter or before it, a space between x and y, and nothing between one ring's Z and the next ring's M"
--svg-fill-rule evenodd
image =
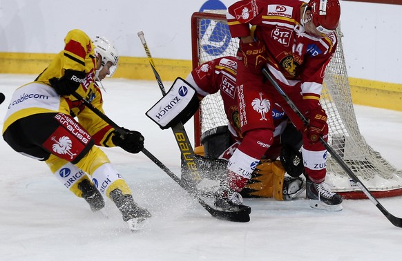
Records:
M79 101L82 101L86 107L88 107L97 116L99 116L101 119L103 119L104 122L106 122L107 124L109 124L113 128L115 128L117 133L119 133L120 135L126 135L127 134L126 131L124 131L123 128L121 128L120 126L115 124L115 122L113 122L109 117L104 115L104 113L102 113L102 111L100 111L97 108L95 108L95 106L90 104L90 102L87 101L86 99L84 99L81 95L79 95L76 92L74 92L72 95L75 97L75 99L78 99ZM186 183L184 183L182 180L180 180L180 178L178 178L178 176L176 176L175 173L173 173L162 162L160 162L160 160L158 160L157 157L155 157L152 153L150 153L148 150L146 150L146 148L142 149L142 153L144 153L144 155L146 155L146 157L148 157L157 166L159 166L162 169L162 171L164 171L167 175L169 175L169 177L171 177L175 182L177 182L185 191L187 191L190 195L192 195L193 198L195 198L195 200L197 200L202 205L202 207L205 210L207 210L213 217L218 218L220 220L229 220L229 221L233 221L233 222L249 222L249 220L250 220L249 212L246 212L246 211L227 212L227 211L220 211L218 209L213 209L211 206L209 206L209 204L204 202L204 200L202 200L192 190L189 190L188 186L186 186Z

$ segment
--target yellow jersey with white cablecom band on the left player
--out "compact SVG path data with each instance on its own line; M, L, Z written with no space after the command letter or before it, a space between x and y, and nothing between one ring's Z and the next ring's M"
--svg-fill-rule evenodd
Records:
M23 117L38 113L65 113L78 118L79 123L93 136L95 144L115 146L110 139L114 131L111 126L72 95L60 97L50 86L49 79L62 77L64 70L85 71L86 79L77 93L103 113L102 94L95 85L96 59L92 41L85 32L75 29L68 32L64 42L64 50L56 55L35 81L15 90L4 119L3 133L10 124Z

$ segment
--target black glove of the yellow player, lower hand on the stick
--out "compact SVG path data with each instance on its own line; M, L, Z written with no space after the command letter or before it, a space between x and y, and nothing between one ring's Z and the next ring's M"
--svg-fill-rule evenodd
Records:
M138 131L126 131L126 135L122 137L117 131L115 131L115 135L112 137L112 142L116 146L124 149L129 153L139 153L144 148L144 136Z

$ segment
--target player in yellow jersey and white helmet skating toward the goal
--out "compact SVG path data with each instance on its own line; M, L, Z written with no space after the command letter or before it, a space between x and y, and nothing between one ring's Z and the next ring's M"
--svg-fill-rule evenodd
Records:
M64 42L64 50L35 81L15 90L3 138L18 153L46 162L93 211L103 208L102 193L115 203L131 230L140 229L151 214L134 202L122 175L97 146L139 153L144 137L129 130L122 137L72 95L79 94L103 113L98 84L117 68L117 50L104 37L91 40L78 29L68 32Z

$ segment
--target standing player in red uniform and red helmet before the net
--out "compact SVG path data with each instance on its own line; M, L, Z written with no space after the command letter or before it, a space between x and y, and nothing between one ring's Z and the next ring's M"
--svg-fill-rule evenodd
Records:
M324 71L337 44L341 14L338 0L244 0L228 8L231 37L240 38L238 51L238 106L243 142L229 160L222 201L232 200L247 183L253 168L271 146L273 101L303 133L303 164L307 196L315 208L342 209L342 197L325 184L327 115L320 106ZM251 27L252 26L252 27ZM262 75L267 67L281 88L309 119L304 126L276 89ZM258 101L260 106L253 106Z

